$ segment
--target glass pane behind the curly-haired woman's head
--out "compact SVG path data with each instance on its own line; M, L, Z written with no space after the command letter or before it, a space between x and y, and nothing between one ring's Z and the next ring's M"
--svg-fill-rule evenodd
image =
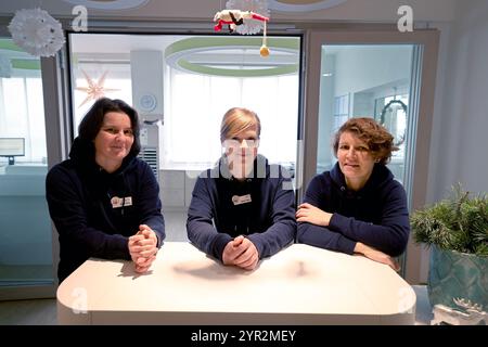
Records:
M388 168L403 181L402 139L407 131L404 110L409 105L412 51L412 44L323 46L322 64L329 74L321 75L318 174L336 162L331 151L334 132L349 117L373 117L395 137L399 151L393 153ZM338 113L331 114L337 104Z

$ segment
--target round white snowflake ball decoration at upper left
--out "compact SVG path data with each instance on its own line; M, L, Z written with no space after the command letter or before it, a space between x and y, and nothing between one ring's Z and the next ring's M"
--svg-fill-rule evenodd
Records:
M34 56L52 56L65 42L61 23L41 9L15 12L9 30L15 44Z

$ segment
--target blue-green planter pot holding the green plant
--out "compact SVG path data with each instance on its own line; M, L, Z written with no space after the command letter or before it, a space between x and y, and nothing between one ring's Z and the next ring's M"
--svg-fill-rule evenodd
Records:
M427 290L432 306L459 308L453 298L464 298L488 311L488 257L433 246Z

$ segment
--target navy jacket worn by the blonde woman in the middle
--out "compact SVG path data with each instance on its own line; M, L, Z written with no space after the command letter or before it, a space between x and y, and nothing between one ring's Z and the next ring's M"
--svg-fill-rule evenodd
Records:
M262 259L294 241L295 194L288 174L258 155L252 177L242 182L235 180L221 158L217 167L197 178L187 231L198 249L222 260L226 245L235 236L245 235ZM233 196L246 195L251 202L234 205Z

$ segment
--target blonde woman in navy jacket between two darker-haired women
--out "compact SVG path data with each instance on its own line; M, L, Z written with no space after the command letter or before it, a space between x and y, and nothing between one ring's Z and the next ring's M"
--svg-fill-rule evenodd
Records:
M290 175L258 155L260 132L256 113L234 107L224 114L224 153L196 180L187 221L198 249L246 270L293 242L296 232Z

